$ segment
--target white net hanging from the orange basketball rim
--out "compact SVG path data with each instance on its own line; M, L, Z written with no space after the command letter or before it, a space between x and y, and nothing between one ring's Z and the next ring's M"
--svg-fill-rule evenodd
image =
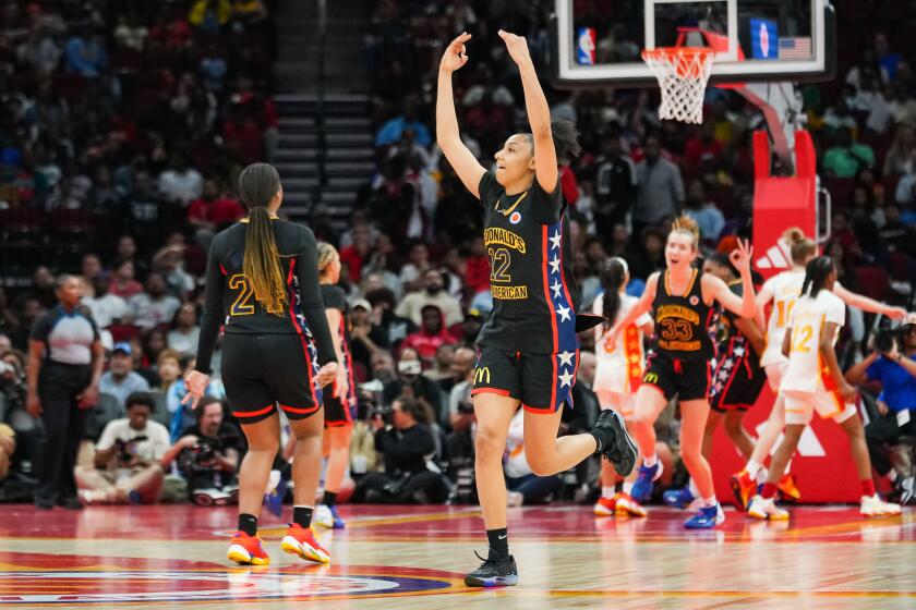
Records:
M663 47L642 51L642 59L662 89L660 119L703 122L703 93L712 71L713 54L707 47Z

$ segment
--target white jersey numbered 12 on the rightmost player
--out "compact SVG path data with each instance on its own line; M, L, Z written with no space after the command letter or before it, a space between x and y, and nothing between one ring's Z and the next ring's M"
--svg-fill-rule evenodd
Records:
M780 386L781 391L823 390L820 339L824 325L833 322L843 326L845 321L846 306L839 296L828 290L818 292L816 298L810 296L798 298L788 318L788 326L792 328L792 345L788 353L788 367Z

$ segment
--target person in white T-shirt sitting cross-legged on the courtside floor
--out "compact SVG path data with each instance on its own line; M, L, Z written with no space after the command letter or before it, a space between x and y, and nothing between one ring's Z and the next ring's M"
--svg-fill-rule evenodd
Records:
M128 416L112 419L96 444L95 467L76 467L80 498L87 504L154 504L165 472L169 431L149 419L156 408L146 392L128 396Z

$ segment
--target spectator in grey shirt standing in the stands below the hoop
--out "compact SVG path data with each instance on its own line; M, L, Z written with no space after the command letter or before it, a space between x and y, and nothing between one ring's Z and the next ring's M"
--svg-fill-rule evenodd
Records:
M646 159L636 166L639 196L632 210L632 232L641 234L648 225L661 224L680 212L684 205L684 182L680 170L662 157L659 137L646 138Z

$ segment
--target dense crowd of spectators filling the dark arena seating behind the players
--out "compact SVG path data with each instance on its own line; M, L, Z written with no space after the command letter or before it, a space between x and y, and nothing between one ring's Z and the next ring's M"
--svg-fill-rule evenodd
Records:
M444 44L462 29L473 33L472 59L456 76L455 93L462 135L490 166L503 138L527 129L517 73L494 33L504 27L527 34L546 83L542 9L550 3L370 4L364 58L377 170L345 231L315 228L340 251L341 286L352 305L360 410L351 473L359 479L397 462L398 443L376 432L390 424L391 403L409 396L419 404L411 427L420 426L415 431L433 449L398 468L442 472L449 481L442 496L471 500L470 382L474 338L492 307L490 268L478 203L434 142L435 75ZM231 463L244 451L243 438L230 416L224 422L222 410L192 413L180 402L182 375L193 366L196 347L206 248L215 232L244 215L234 193L238 171L269 160L276 143L266 76L269 8L260 0L4 3L0 261L4 276L29 281L0 286L0 358L8 364L0 369L0 420L8 424L0 426L0 472L4 455L15 452L13 462L26 464L25 475L40 457L28 453L29 436L40 431L23 411L23 353L32 322L55 306L55 277L76 271L84 280L83 304L104 330L109 353L104 400L88 432L95 452L87 446L77 468L86 474L113 463L117 469L130 453L124 448L133 447L124 467L138 481L119 487L123 480L77 475L84 499L177 499L186 488L201 503L231 500ZM113 23L113 29L104 27ZM805 86L803 93L819 170L833 193L825 251L839 263L841 281L912 309L916 57L894 52L899 42L875 34L873 49L842 66L840 85ZM583 308L602 290L600 270L608 256L629 261L629 290L639 293L643 280L664 266L666 224L682 210L699 222L707 251L750 236L749 142L762 123L739 96L711 88L703 125L685 126L658 120L652 91L547 86L546 93L554 118L576 123L583 145L582 156L562 174ZM53 249L59 244L72 247ZM844 339L846 365L866 347L860 314L852 328ZM583 350L589 341L583 337ZM209 404L224 395L218 364L208 391L216 402ZM577 408L565 412L564 431L590 427L598 411L591 376L593 364L584 356ZM165 428L167 441L153 442L162 432L153 424ZM674 444L673 413L658 427L660 440ZM147 428L156 431L141 435L137 452L130 439ZM4 439L13 437L16 444L8 447ZM205 437L222 440L208 444ZM220 476L201 481L201 468L194 469L200 464L206 476ZM540 497L517 492L521 501L582 500L596 474L588 464L556 485L535 481L535 490L547 490ZM150 465L161 475L152 483L144 471Z

